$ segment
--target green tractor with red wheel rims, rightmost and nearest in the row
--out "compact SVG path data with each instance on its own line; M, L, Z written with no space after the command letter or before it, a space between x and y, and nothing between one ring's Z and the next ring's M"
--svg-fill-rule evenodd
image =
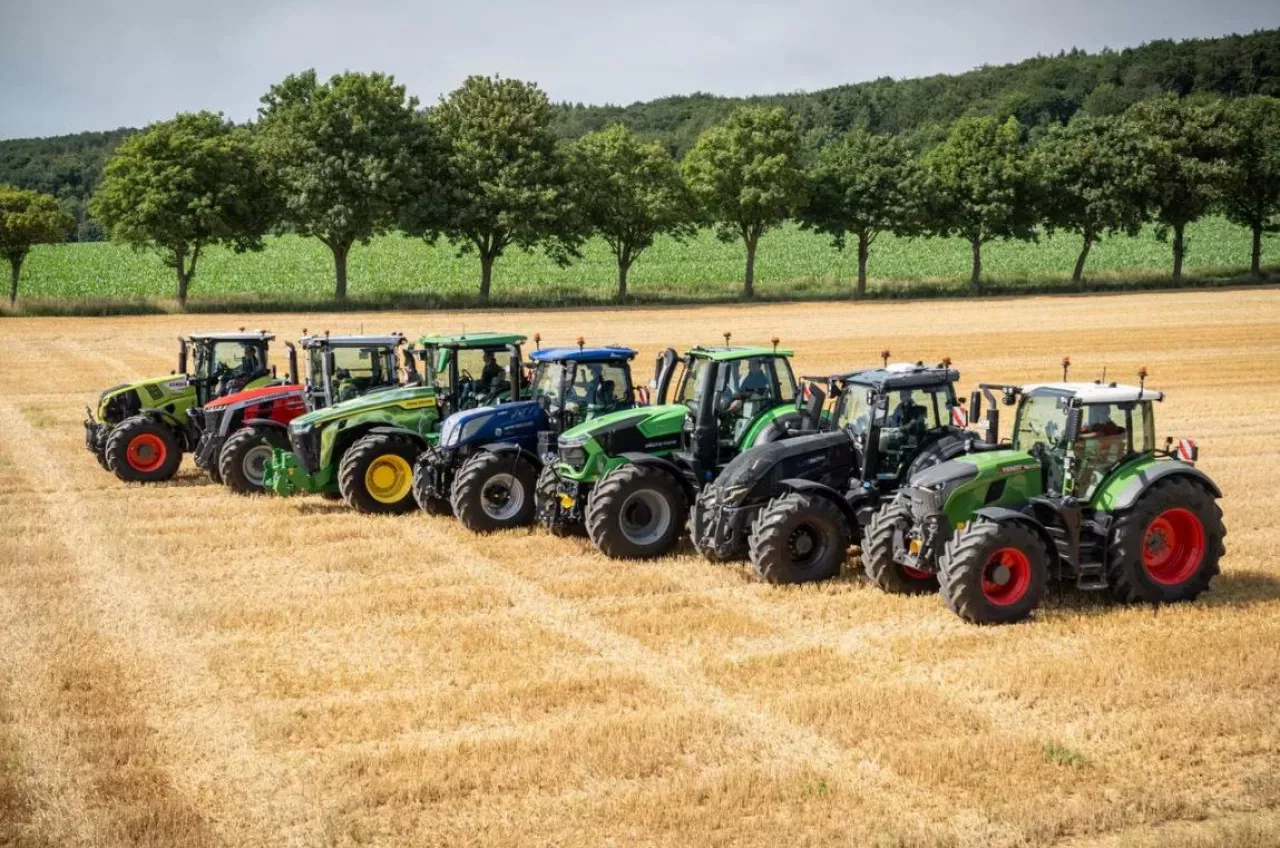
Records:
M987 446L911 478L872 520L867 574L890 592L940 587L968 621L1019 621L1051 579L1120 602L1190 601L1224 553L1217 485L1198 448L1156 444L1155 402L1138 386L983 384ZM996 396L1016 405L1012 439L996 444Z

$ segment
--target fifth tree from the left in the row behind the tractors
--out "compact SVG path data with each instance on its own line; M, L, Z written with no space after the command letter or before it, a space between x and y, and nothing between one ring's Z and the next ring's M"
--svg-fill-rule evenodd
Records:
M627 272L657 236L694 233L692 197L671 155L622 124L580 138L570 160L576 205L618 260L618 300L625 301Z

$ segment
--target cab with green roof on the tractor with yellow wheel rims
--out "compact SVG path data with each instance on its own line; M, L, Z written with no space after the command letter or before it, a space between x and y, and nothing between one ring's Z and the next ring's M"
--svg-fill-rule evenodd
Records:
M435 388L442 416L518 396L525 338L511 333L420 338L422 380Z

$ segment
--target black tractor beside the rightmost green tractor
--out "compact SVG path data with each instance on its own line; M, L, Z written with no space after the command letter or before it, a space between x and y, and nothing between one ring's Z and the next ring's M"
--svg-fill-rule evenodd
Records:
M836 398L829 427L754 447L703 489L690 534L707 559L750 555L769 583L836 576L881 501L974 441L950 360L805 378L810 402ZM817 421L814 421L817 424Z

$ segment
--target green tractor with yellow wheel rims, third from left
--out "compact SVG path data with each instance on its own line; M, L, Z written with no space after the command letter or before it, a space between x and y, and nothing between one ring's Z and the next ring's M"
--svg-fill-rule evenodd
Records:
M439 424L449 414L511 397L521 382L524 341L511 333L424 336L419 339L424 373L416 384L293 419L292 451L273 451L264 487L275 494L342 497L360 512L417 509L415 460L436 442ZM412 355L406 351L406 359Z

